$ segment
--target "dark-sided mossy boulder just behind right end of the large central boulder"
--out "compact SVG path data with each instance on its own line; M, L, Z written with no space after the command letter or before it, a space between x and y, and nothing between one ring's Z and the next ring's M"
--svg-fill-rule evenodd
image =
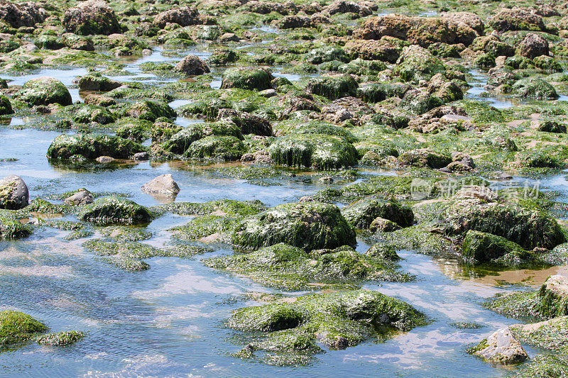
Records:
M367 229L380 217L398 224L400 227L412 226L413 210L395 200L387 201L378 196L368 196L342 209L346 221L355 228Z

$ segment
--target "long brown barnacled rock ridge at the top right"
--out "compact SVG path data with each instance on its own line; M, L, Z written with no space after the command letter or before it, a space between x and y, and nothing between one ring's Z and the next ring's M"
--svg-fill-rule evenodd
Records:
M448 18L409 17L400 14L386 14L368 18L354 30L355 39L380 40L383 36L406 40L412 45L428 47L442 42L454 45L469 45L478 35L464 22Z

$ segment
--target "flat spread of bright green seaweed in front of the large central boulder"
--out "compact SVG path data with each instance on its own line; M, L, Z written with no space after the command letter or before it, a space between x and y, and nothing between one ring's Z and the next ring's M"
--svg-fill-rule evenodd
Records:
M214 257L205 264L287 290L322 289L361 280L408 282L413 278L397 272L391 261L362 255L347 246L307 254L300 248L278 243L244 255Z

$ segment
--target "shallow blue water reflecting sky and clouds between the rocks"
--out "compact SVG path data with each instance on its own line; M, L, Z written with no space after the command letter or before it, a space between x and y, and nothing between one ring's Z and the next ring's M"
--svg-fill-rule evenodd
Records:
M271 30L268 30L271 31ZM193 51L193 50L191 50ZM197 50L195 50L197 51ZM206 57L207 52L200 52ZM129 60L127 81L155 77L141 72L141 62L174 61L155 50L140 60ZM7 77L23 84L35 76L57 77L72 86L72 79L84 69L42 70L37 75ZM283 75L298 79L295 75ZM482 82L483 75L479 74ZM217 73L212 87L220 85ZM159 78L160 81L173 79ZM481 88L482 88L481 84ZM74 99L78 99L78 91ZM471 89L476 98L481 91ZM487 98L484 97L485 100ZM510 106L510 100L490 99L495 106ZM174 107L187 101L173 101ZM30 120L12 118L11 126L26 126ZM178 118L187 126L200 122ZM62 191L87 187L90 191L114 191L133 201L153 206L159 201L143 194L140 187L155 176L171 173L180 188L176 201L212 199L258 199L268 206L295 201L326 187L304 177L283 179L281 186L259 187L243 179L222 178L212 167L180 162L149 162L126 165L99 165L77 172L48 162L45 152L60 132L0 127L0 177L18 174L28 184L31 199ZM393 174L368 170L366 174ZM545 187L568 191L561 175L542 182ZM340 185L340 184L338 184ZM155 236L144 243L168 242L172 226L189 217L163 216L149 230ZM44 321L52 330L82 330L88 336L66 348L30 343L1 354L0 375L6 377L80 376L80 377L187 377L275 375L295 377L503 377L510 370L493 367L467 355L466 345L475 343L497 328L516 323L483 308L483 301L499 291L522 289L525 282L537 287L548 274L566 271L555 267L547 271L502 272L498 276L470 277L457 262L435 259L414 252L399 251L402 269L417 276L407 284L366 284L368 289L408 301L433 319L429 326L396 335L384 343L368 341L346 350L329 350L317 355L305 367L272 367L229 357L241 346L231 341L238 335L223 328L223 321L235 308L253 304L243 295L249 291L270 291L248 279L204 267L201 256L193 259L155 257L147 260L146 272L122 272L97 259L81 246L82 240L67 241L67 231L38 229L31 238L0 242L0 309L12 308ZM359 240L358 250L368 245ZM204 257L230 253L217 248ZM476 322L479 329L458 329L454 322ZM536 351L528 350L530 355ZM514 368L513 368L514 369Z

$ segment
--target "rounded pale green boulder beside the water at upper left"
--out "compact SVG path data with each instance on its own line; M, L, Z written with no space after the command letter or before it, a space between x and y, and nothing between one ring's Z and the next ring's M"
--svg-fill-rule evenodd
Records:
M58 79L47 76L28 80L15 97L31 106L72 104L71 94L67 87Z

